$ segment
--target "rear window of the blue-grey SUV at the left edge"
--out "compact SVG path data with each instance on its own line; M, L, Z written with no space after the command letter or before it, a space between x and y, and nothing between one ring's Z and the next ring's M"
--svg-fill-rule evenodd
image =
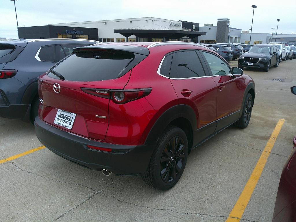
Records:
M14 60L24 48L12 44L0 44L0 64Z

